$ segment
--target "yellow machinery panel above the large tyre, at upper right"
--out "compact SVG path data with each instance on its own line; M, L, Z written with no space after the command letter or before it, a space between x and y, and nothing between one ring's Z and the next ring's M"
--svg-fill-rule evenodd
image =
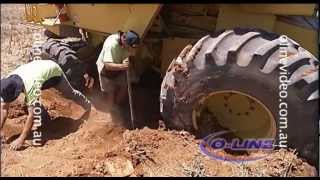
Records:
M278 21L274 15L285 13L294 15L312 14L314 7L312 4L301 4L301 7L297 6L297 4L269 4L267 6L221 5L216 30L250 27L261 28L277 34L285 34L300 43L302 47L312 54L318 56L317 31ZM283 12L280 11L281 8ZM258 10L261 11L258 12Z

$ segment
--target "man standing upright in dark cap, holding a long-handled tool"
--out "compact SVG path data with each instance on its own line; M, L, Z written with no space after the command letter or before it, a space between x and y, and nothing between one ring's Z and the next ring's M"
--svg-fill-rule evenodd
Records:
M127 96L128 57L139 43L139 35L134 31L119 31L104 41L96 64L101 91L108 94L112 105L120 104Z

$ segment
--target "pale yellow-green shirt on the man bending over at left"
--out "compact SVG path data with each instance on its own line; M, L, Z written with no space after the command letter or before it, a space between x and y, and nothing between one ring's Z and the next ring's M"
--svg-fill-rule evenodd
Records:
M18 75L24 84L26 104L32 105L40 96L44 82L63 74L60 66L51 60L36 60L15 69L10 75Z

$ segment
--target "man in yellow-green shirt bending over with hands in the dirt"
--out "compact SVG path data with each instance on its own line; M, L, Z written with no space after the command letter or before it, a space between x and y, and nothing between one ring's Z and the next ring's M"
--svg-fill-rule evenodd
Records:
M72 88L60 66L51 60L36 60L24 64L1 79L1 141L4 141L2 131L7 118L9 103L14 101L21 92L25 94L28 106L28 117L20 136L10 144L13 150L20 149L27 138L34 120L36 107L41 106L39 97L41 90L55 87L66 98L74 100L87 112L91 109L90 101L79 91Z

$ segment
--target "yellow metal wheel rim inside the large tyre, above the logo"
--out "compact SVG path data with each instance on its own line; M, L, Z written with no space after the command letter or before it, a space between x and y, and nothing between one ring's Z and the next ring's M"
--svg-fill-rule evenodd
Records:
M210 116L203 116L204 109ZM243 139L276 136L276 124L271 111L257 98L234 90L217 91L201 98L193 108L192 123L196 130L218 123Z

